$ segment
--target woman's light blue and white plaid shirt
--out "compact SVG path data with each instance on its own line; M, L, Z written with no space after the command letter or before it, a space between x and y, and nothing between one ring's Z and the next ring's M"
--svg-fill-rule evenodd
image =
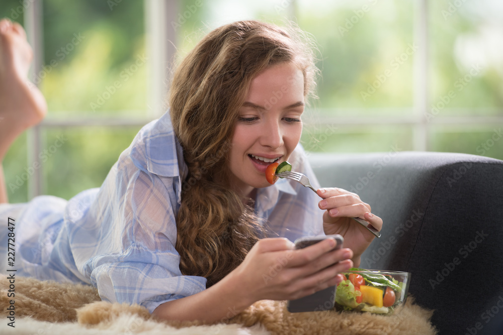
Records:
M318 187L300 145L289 161ZM103 300L137 303L150 312L204 290L205 278L182 275L175 249L186 174L166 113L140 130L100 188L69 201L38 196L25 204L0 204L0 270L7 273L10 216L17 275L91 284ZM323 234L318 201L311 190L280 179L258 190L255 212L274 232L271 237L293 241Z

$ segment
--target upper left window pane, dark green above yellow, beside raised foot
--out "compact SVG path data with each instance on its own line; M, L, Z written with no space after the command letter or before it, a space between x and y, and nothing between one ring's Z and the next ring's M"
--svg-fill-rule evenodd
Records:
M45 65L35 82L41 83L49 117L145 115L143 2L43 5Z

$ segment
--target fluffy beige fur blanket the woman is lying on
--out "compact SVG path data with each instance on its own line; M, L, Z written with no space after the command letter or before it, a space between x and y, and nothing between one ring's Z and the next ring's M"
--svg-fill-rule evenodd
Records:
M139 305L101 301L94 287L17 277L14 297L0 275L2 334L436 334L433 311L413 304L409 297L392 316L352 312L289 313L285 301L262 300L228 320L212 325L155 319ZM11 291L12 293L12 291ZM8 325L11 300L15 322Z

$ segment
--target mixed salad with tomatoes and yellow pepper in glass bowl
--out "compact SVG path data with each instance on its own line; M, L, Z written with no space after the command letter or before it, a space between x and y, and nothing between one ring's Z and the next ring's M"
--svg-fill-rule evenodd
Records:
M336 308L338 310L364 311L377 314L392 314L394 308L406 298L402 293L403 282L378 271L351 268L349 271L360 273L343 273L344 280L336 291Z

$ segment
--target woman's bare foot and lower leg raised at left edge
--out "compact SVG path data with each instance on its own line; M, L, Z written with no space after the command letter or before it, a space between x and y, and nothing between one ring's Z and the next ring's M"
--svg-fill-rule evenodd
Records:
M23 27L0 21L0 203L8 202L2 162L9 147L47 111L44 96L26 78L32 57Z

